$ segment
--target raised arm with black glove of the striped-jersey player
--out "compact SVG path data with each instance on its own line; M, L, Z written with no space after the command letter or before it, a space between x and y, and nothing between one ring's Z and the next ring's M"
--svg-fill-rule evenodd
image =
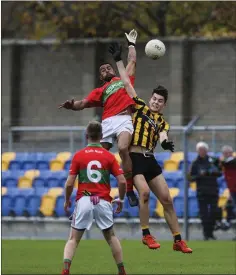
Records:
M116 65L117 65L117 68L118 68L118 71L120 74L120 78L124 83L124 86L125 86L125 89L126 89L128 95L130 97L136 97L137 94L130 82L129 75L128 75L128 73L125 69L124 63L121 59L121 53L122 53L121 45L119 45L118 43L112 43L109 47L109 52L112 54L112 56L116 62Z

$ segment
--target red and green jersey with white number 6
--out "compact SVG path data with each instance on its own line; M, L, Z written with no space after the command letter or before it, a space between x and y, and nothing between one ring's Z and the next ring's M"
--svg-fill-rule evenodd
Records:
M89 144L75 153L70 175L78 175L78 191L76 200L90 192L100 198L111 201L110 174L118 176L123 174L115 156L102 148L100 144Z

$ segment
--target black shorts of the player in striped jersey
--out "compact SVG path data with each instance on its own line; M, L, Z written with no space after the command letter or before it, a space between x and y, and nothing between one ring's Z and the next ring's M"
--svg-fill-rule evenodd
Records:
M162 169L154 156L145 157L142 153L131 152L130 158L133 166L133 177L143 175L145 180L149 182L162 173Z

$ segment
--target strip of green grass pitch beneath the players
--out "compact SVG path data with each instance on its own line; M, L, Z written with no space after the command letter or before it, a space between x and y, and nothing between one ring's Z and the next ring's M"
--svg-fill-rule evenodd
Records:
M2 241L2 274L60 274L65 241ZM122 241L127 274L235 274L233 241L192 241L193 254L172 251L161 241L149 250L140 241ZM117 274L105 241L82 241L71 267L72 274Z

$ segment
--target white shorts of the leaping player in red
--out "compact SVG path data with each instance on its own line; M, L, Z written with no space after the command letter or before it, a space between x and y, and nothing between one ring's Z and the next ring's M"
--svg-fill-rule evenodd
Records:
M118 137L121 132L134 132L132 118L130 115L117 115L106 118L102 121L102 140L113 144L114 138Z

